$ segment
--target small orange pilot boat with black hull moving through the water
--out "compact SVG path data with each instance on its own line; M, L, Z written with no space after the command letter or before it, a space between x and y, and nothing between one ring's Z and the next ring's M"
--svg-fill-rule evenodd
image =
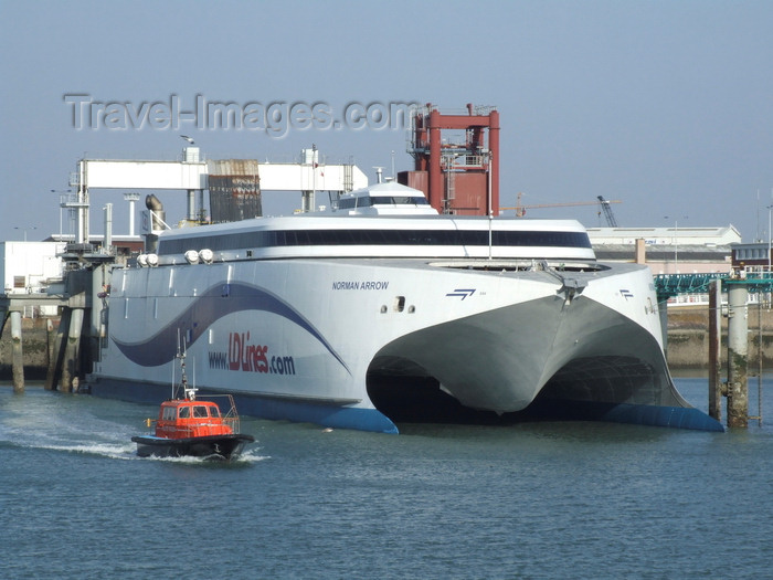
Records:
M233 397L222 396L227 397L231 404L225 415L218 403L197 400L197 389L190 387L186 378L184 352L178 354L178 358L181 360L181 383L173 388L172 399L161 403L158 419L147 420L148 426L156 423L155 434L131 437L137 443L137 454L140 457L239 457L255 437L239 432L240 420ZM182 390L182 399L176 398L178 390Z

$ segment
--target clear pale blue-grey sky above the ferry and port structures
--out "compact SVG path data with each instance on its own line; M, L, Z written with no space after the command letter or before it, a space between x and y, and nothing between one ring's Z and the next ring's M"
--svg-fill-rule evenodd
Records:
M589 202L527 218L599 226L591 202L603 196L621 201L621 226L767 235L766 0L0 0L0 240L68 233L60 196L78 159L172 160L180 135L213 159L292 160L314 144L371 180L375 166L412 168L401 126L336 128L321 115L271 131L260 115L241 128L165 117L197 98L279 113L318 104L328 120L351 104L496 106L500 205L519 192L523 204ZM165 192L167 214L182 218L183 200ZM128 233L128 204L113 190L92 191L92 232L103 232L107 202L114 235ZM295 193L264 202L265 213L295 207Z

